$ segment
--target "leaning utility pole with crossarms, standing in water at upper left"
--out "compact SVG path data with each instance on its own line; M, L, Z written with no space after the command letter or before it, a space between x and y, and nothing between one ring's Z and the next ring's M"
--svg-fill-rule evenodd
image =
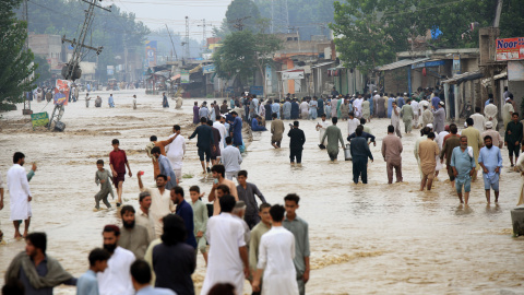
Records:
M62 76L64 80L74 81L76 79L80 79L80 76L82 76L82 70L80 69L80 61L82 59L83 48L95 50L96 55L99 55L102 52L102 49L104 49L104 47L102 46L98 48L95 48L92 46L84 45L84 42L85 42L85 37L87 37L87 33L91 28L91 25L93 24L93 20L95 19L95 12L94 12L95 7L108 12L111 12L111 10L108 8L100 7L96 3L97 1L102 1L102 0L82 0L82 1L88 3L90 7L87 8L87 10L85 10L85 20L82 26L82 31L80 32L79 38L78 39L74 38L71 40L71 39L67 39L66 35L63 35L62 37L62 44L67 42L67 43L70 43L71 46L73 47L73 55L71 56L71 59L62 68ZM55 121L55 126L57 122L60 121L63 115L63 110L64 110L63 105L55 105L55 109L52 110L51 118L49 118L48 129L51 129L51 125L53 121ZM63 130L63 127L62 127L62 130Z

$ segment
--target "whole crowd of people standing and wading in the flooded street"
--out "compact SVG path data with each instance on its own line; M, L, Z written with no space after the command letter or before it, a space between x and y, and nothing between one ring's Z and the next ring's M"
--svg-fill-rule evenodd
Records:
M485 108L487 114L483 116L476 108L460 130L456 123L445 125L445 104L440 95L439 90L410 96L397 94L396 97L373 92L353 96L336 94L329 98L305 97L299 103L290 95L283 102L264 102L246 94L239 99L224 101L222 106L215 101L210 108L206 102L200 106L195 103L193 123L196 127L188 140L198 138L202 173L211 174L214 181L209 194L198 186L187 188L188 200L186 189L180 186L186 139L180 134L179 125L172 127L172 134L165 140L150 137L145 150L152 160L155 185L144 186L143 172L138 172L136 204L122 202L126 176L132 177L133 173L119 140L112 140L109 169L105 168L104 160L96 162L95 182L100 189L95 194L94 211L100 210L100 201L110 208L108 198L111 196L116 198L122 225L100 226L102 248L90 252L88 270L79 279L46 255L45 233L29 233L29 180L36 165L26 174L25 155L16 152L7 174L10 220L15 228L14 237L24 237L26 247L9 264L2 292L52 294L55 286L67 284L76 285L79 295L194 294L191 275L200 251L206 264L203 295L241 294L246 280L253 294L305 294L310 249L308 223L297 215L300 198L289 193L283 200L284 205L271 205L257 185L248 182L248 172L241 168L246 149L243 122L251 121L251 131L257 132L266 131L265 122L271 120L271 145L282 149L283 120L291 120L289 158L291 165L300 165L306 135L298 119L320 117L315 125L319 148L327 152L332 162L337 161L340 146L348 150L355 184L368 182L368 161L373 161L370 145L377 144L373 133L385 134L380 151L386 163L388 182L393 182L393 172L396 181L403 181L402 133L419 130L414 157L418 163L421 191L433 188L433 179L444 169L445 161L445 172L461 203L468 204L469 191L479 170L487 202L491 202L491 190L498 202L503 145L508 146L511 166L524 173L524 156L520 155L524 130L511 105L512 94L508 94L501 114L503 139L497 129L498 113L493 115L488 108L495 106L492 97ZM371 130L366 123L376 118L389 118L391 123L382 132ZM347 121L347 144L337 126L341 120ZM0 175L0 209L3 208L3 193ZM521 203L524 203L523 193ZM20 232L22 222L23 234Z

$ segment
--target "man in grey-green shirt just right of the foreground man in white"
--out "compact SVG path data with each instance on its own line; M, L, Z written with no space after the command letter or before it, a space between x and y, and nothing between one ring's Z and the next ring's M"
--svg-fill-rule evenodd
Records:
M306 283L309 281L309 233L308 223L297 216L300 197L289 193L284 198L286 217L284 227L295 236L295 269L297 270L297 284L300 295L306 294Z

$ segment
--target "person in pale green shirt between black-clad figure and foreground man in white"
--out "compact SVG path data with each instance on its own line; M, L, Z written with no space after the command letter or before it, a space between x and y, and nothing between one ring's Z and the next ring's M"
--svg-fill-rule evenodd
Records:
M207 241L205 240L205 229L207 227L207 206L202 202L201 198L203 193L200 193L200 187L192 186L189 188L189 196L191 197L191 208L193 209L193 224L194 224L194 237L196 238L196 251L204 257L205 266L207 266Z

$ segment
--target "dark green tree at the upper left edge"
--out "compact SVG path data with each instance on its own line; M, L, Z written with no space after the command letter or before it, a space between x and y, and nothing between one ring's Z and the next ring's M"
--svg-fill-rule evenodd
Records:
M37 66L33 52L25 50L27 24L16 19L14 10L22 0L3 0L0 5L0 104L23 102L22 94L34 88Z

